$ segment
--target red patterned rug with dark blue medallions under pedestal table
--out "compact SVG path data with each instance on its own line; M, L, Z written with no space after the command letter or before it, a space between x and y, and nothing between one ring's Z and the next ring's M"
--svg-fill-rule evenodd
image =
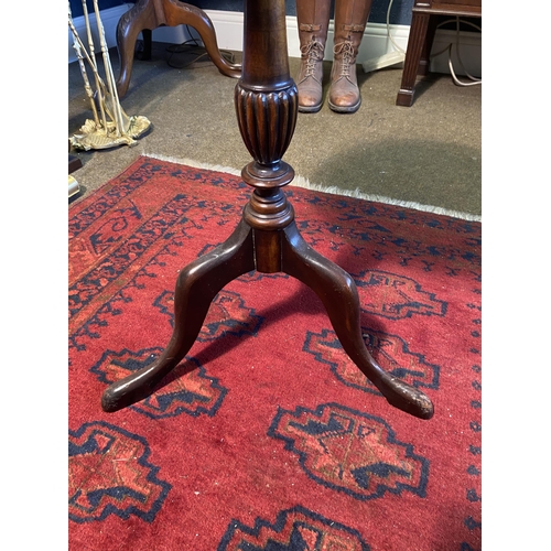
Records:
M72 550L480 549L480 224L285 191L356 281L371 354L434 417L390 407L313 291L262 273L218 293L162 389L105 413L106 387L168 344L179 270L251 193L139 158L69 209Z

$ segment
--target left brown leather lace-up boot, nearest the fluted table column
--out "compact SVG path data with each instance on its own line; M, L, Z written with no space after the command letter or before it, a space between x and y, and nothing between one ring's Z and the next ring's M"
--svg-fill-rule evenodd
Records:
M323 102L323 56L329 26L331 0L296 0L301 66L295 78L299 111L316 112Z

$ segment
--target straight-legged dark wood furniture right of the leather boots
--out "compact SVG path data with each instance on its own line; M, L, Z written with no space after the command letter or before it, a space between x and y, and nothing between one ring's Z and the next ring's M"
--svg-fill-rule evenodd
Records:
M482 17L482 0L415 0L402 83L396 98L398 106L410 107L413 104L417 76L429 72L437 15Z

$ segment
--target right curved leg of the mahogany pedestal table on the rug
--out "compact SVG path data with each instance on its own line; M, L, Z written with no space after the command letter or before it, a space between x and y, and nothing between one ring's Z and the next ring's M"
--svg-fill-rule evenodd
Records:
M385 371L367 350L361 336L358 292L352 277L312 249L294 223L283 231L283 271L316 292L346 354L391 406L420 419L431 419L434 413L431 400Z

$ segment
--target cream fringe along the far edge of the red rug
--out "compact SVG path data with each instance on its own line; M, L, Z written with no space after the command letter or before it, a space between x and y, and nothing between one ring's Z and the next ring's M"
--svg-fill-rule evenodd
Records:
M187 166L193 166L194 169L205 169L205 170L212 170L212 171L217 171L217 172L226 172L228 174L234 174L236 176L241 175L240 170L233 169L231 166L223 166L220 164L203 163L201 161L195 161L194 159L187 159L187 158L176 159L173 156L160 155L156 153L143 153L143 155L150 156L152 159L158 159L159 161L166 161L166 162L176 163L176 164L186 164ZM423 204L417 203L414 201L400 201L400 199L393 199L391 197L386 197L383 195L370 195L370 194L360 192L358 188L352 191L352 190L343 190L341 187L337 187L336 185L326 186L326 185L321 185L321 184L312 184L312 183L310 183L310 181L306 177L300 176L300 175L296 175L290 185L296 186L296 187L303 187L305 190L312 190L315 192L328 193L332 195L343 195L343 196L353 197L356 199L370 201L372 203L396 205L396 206L401 206L404 208L411 208L413 210L421 210L424 213L433 213L433 214L439 214L439 215L443 215L443 216L450 216L452 218L460 218L462 220L482 222L482 216L478 216L475 214L462 213L458 210L451 210L451 209L434 206L434 205L423 205Z

